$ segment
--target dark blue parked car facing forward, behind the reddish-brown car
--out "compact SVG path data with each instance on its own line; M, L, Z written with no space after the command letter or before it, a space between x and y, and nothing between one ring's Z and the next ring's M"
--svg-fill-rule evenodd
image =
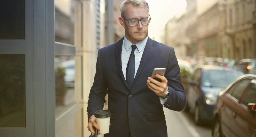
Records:
M213 121L214 102L218 93L243 74L242 71L220 66L194 67L194 72L188 80L188 91L185 92L185 110L194 112L196 124Z

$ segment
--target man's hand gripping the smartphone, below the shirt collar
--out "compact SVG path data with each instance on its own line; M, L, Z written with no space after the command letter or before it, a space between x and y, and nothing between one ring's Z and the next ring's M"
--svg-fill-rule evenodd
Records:
M159 81L153 79L152 77L148 77L147 86L149 89L154 91L156 93L156 95L158 95L160 97L164 97L165 93L168 90L168 87L167 87L168 81L164 76L161 76L159 74L156 74L156 78L159 78L162 81L159 82Z

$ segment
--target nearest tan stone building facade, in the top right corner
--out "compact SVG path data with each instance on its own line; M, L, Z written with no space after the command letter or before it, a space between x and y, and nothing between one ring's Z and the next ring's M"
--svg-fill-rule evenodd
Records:
M228 57L234 59L255 58L255 37L253 29L253 10L255 1L228 0L222 2L226 16L223 42L229 41ZM228 37L228 38L227 38ZM224 49L225 50L225 49ZM223 54L223 56L225 56Z

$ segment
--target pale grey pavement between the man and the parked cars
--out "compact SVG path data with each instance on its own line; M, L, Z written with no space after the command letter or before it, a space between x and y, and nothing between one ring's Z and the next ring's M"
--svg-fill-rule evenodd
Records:
M197 126L192 114L164 107L168 137L211 137L211 125Z

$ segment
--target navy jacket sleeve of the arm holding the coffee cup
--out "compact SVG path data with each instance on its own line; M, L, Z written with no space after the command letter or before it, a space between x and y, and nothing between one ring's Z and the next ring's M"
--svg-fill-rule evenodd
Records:
M107 86L102 75L102 70L100 66L100 50L99 50L97 63L96 63L96 73L94 76L93 85L90 90L88 106L87 106L88 118L94 115L97 110L103 109L106 94L107 94Z

